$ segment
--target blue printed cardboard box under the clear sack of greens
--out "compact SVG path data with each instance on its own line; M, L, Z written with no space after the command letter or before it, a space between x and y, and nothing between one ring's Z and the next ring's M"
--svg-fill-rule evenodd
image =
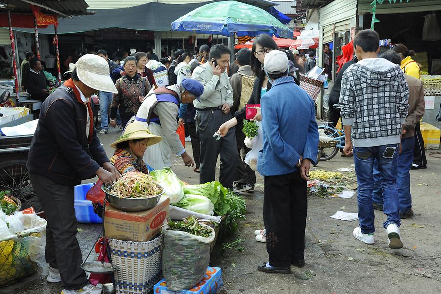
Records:
M222 269L219 267L208 267L205 277L195 287L189 290L172 291L167 289L165 279L159 281L153 287L154 294L214 294L221 288Z

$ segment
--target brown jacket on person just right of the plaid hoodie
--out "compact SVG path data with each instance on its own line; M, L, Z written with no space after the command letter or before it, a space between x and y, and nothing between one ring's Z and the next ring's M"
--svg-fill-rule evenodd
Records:
M407 131L403 139L414 136L415 125L424 115L424 89L422 81L404 74L409 85L409 110L403 127Z

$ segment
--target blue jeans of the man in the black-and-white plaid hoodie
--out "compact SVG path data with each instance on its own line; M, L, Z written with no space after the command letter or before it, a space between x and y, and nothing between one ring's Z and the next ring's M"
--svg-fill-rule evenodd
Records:
M358 220L361 232L364 234L375 232L375 215L372 205L375 160L378 160L379 163L378 167L384 199L383 213L387 216L383 227L386 228L390 223L400 226L398 188L396 184L399 144L354 147L353 149L358 182Z

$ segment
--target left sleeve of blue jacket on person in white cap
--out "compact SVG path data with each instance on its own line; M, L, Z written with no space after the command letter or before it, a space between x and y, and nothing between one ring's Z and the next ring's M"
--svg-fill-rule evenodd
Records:
M265 120L262 120L265 136L270 138L268 143L280 160L285 161L289 166L295 167L298 164L300 155L283 140L280 134L281 122L279 121L279 111L273 103L266 103L268 99L264 98L261 99L261 111L262 117L265 117Z

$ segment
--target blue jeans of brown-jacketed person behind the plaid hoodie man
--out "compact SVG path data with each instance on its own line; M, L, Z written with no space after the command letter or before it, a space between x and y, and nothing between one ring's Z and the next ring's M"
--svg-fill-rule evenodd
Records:
M400 201L400 212L404 213L412 208L412 196L410 193L410 174L409 170L414 158L415 139L413 137L401 140L401 154L398 156L398 170L396 174L396 184L398 186L398 199ZM380 171L378 162L374 164L374 189L372 200L375 203L383 204L383 191L380 185Z

